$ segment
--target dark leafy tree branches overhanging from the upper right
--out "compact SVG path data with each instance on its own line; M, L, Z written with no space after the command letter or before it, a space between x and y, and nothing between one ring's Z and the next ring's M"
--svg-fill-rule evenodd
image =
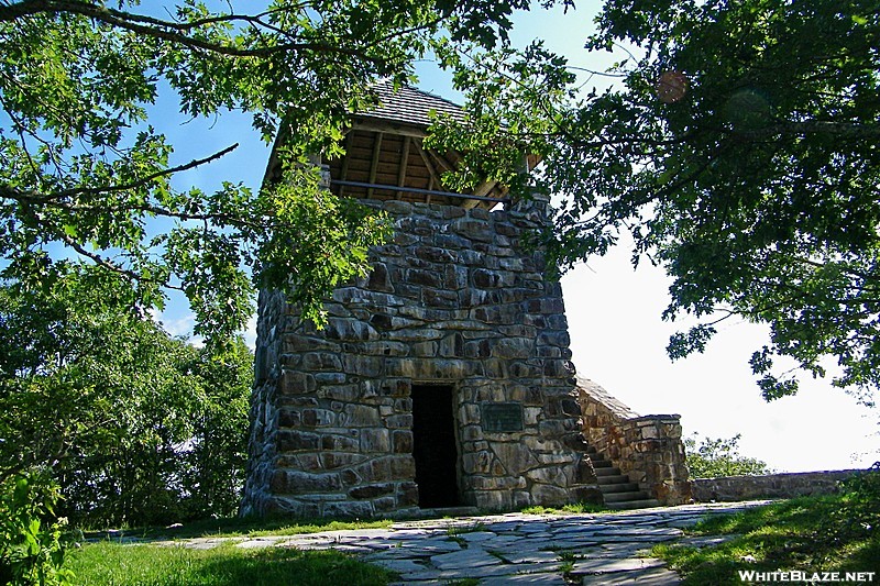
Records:
M471 153L458 180L484 170L516 181L542 157L530 189L561 207L543 242L564 269L604 253L622 230L673 278L663 317L700 323L670 341L700 352L716 324L767 323L751 357L767 399L837 363L833 384L870 402L880 384L880 11L873 0L728 2L608 0L586 47L632 47L609 89L576 91L564 58L464 52L468 132L438 140ZM625 49L628 51L628 49ZM506 163L506 164L505 164ZM470 175L469 175L470 174Z

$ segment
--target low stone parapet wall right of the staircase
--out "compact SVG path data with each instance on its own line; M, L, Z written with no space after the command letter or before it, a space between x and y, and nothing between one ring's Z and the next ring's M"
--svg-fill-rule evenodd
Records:
M694 478L693 497L698 502L737 501L755 498L794 498L836 493L840 480L865 471L825 471Z

